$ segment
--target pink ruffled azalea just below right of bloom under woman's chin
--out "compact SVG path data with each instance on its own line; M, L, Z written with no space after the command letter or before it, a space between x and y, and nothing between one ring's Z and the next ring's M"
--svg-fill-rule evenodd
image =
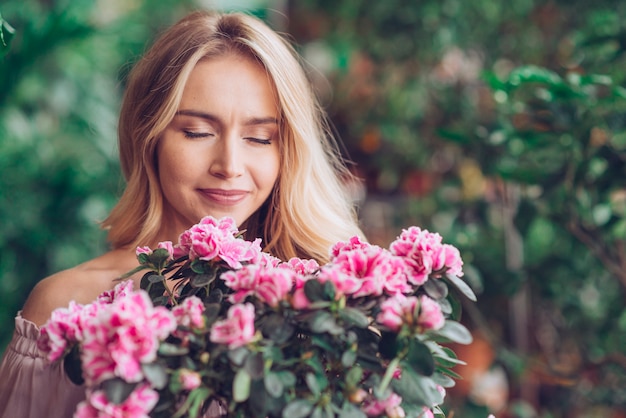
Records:
M222 274L222 280L233 293L229 300L240 303L249 295L255 295L272 307L278 306L291 291L296 273L284 268L264 268L254 264L237 271Z

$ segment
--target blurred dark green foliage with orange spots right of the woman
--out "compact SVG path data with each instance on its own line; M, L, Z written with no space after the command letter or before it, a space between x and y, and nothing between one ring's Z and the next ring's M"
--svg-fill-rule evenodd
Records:
M416 223L455 239L481 292L459 416L626 404L625 15L608 1L292 3L289 32L367 186L370 239Z

